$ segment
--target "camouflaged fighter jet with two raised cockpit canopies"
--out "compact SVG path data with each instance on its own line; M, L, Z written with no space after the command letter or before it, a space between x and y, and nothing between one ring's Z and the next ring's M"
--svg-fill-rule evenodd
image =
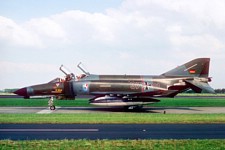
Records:
M208 82L209 58L198 58L157 76L146 75L95 75L80 68L83 74L75 76L64 66L60 70L64 79L56 78L48 83L21 88L14 93L24 98L31 96L50 97L49 106L55 109L53 96L73 99L78 95L91 95L90 104L99 106L123 106L139 108L156 103L158 97L174 97L192 89L197 93L215 93Z

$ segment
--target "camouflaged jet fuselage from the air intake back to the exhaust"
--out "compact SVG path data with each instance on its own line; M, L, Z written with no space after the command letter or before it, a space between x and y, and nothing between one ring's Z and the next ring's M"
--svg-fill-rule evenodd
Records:
M140 75L90 75L73 82L75 95L169 96L188 89L183 79Z

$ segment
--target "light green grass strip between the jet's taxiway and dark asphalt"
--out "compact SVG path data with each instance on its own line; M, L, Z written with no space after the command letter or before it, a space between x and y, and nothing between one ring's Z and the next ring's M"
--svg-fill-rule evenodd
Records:
M37 123L37 124L225 123L225 114L149 114L149 113L0 114L0 123Z

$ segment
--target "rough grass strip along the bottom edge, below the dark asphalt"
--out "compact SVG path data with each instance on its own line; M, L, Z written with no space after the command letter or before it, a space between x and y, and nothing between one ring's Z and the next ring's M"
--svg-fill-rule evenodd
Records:
M224 139L213 140L1 140L0 149L76 149L76 150L222 150Z

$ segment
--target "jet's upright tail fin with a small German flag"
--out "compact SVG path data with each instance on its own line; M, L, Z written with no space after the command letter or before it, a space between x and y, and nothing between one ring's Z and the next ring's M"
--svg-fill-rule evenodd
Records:
M197 58L175 69L163 73L163 76L208 77L210 58Z

